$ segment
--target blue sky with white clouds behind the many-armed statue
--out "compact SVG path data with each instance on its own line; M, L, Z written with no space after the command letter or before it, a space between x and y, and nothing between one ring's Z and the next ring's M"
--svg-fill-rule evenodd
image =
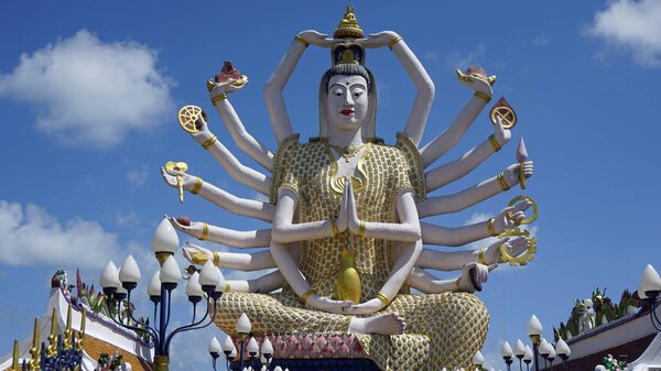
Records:
M97 282L107 260L132 253L151 276L149 241L161 215L235 229L263 228L236 218L161 181L159 166L186 161L189 172L243 197L176 122L195 103L212 129L247 164L215 114L205 80L231 61L250 83L231 97L248 129L274 150L262 86L300 31L330 33L344 2L172 1L18 2L0 13L0 353L24 338L43 314L50 277L79 266ZM436 194L456 192L514 162L523 135L535 175L527 195L540 205L539 254L524 269L499 269L480 297L491 314L485 354L525 337L531 313L551 327L574 298L595 287L619 296L658 260L661 199L661 4L644 1L474 3L357 1L367 32L393 30L427 68L436 98L424 141L444 130L470 97L454 69L483 66L498 76L495 96L519 113L513 140L478 170ZM67 63L53 63L66 61ZM403 128L412 83L387 48L369 51L379 87L378 131L387 141ZM326 50L310 47L285 99L296 131L316 134L316 89ZM55 67L54 67L55 66ZM491 133L486 111L440 160L460 155ZM512 189L456 215L431 219L460 226L498 212ZM182 242L184 237L182 236ZM145 287L147 282L142 287ZM182 318L185 299L178 298ZM183 320L183 319L182 319ZM207 331L218 335L219 330ZM199 341L206 345L207 334ZM182 337L177 370L208 367L206 346ZM196 348L197 347L197 348ZM185 365L184 365L185 364ZM502 368L498 363L496 368Z

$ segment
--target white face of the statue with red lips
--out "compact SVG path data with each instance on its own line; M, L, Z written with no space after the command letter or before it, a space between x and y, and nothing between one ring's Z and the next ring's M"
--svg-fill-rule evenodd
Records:
M362 76L330 77L326 114L333 128L360 128L367 118L368 106L367 81Z

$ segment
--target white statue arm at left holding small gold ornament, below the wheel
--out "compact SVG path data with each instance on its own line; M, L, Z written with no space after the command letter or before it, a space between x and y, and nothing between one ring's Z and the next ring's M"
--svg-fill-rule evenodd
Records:
M161 175L167 185L176 187L176 176L182 179L184 190L195 192L206 200L226 209L236 215L242 215L260 220L271 222L273 220L274 207L271 204L261 203L254 199L237 197L215 185L204 182L201 177L181 172L167 172L161 167ZM196 186L197 185L197 186ZM199 187L197 189L196 187Z

